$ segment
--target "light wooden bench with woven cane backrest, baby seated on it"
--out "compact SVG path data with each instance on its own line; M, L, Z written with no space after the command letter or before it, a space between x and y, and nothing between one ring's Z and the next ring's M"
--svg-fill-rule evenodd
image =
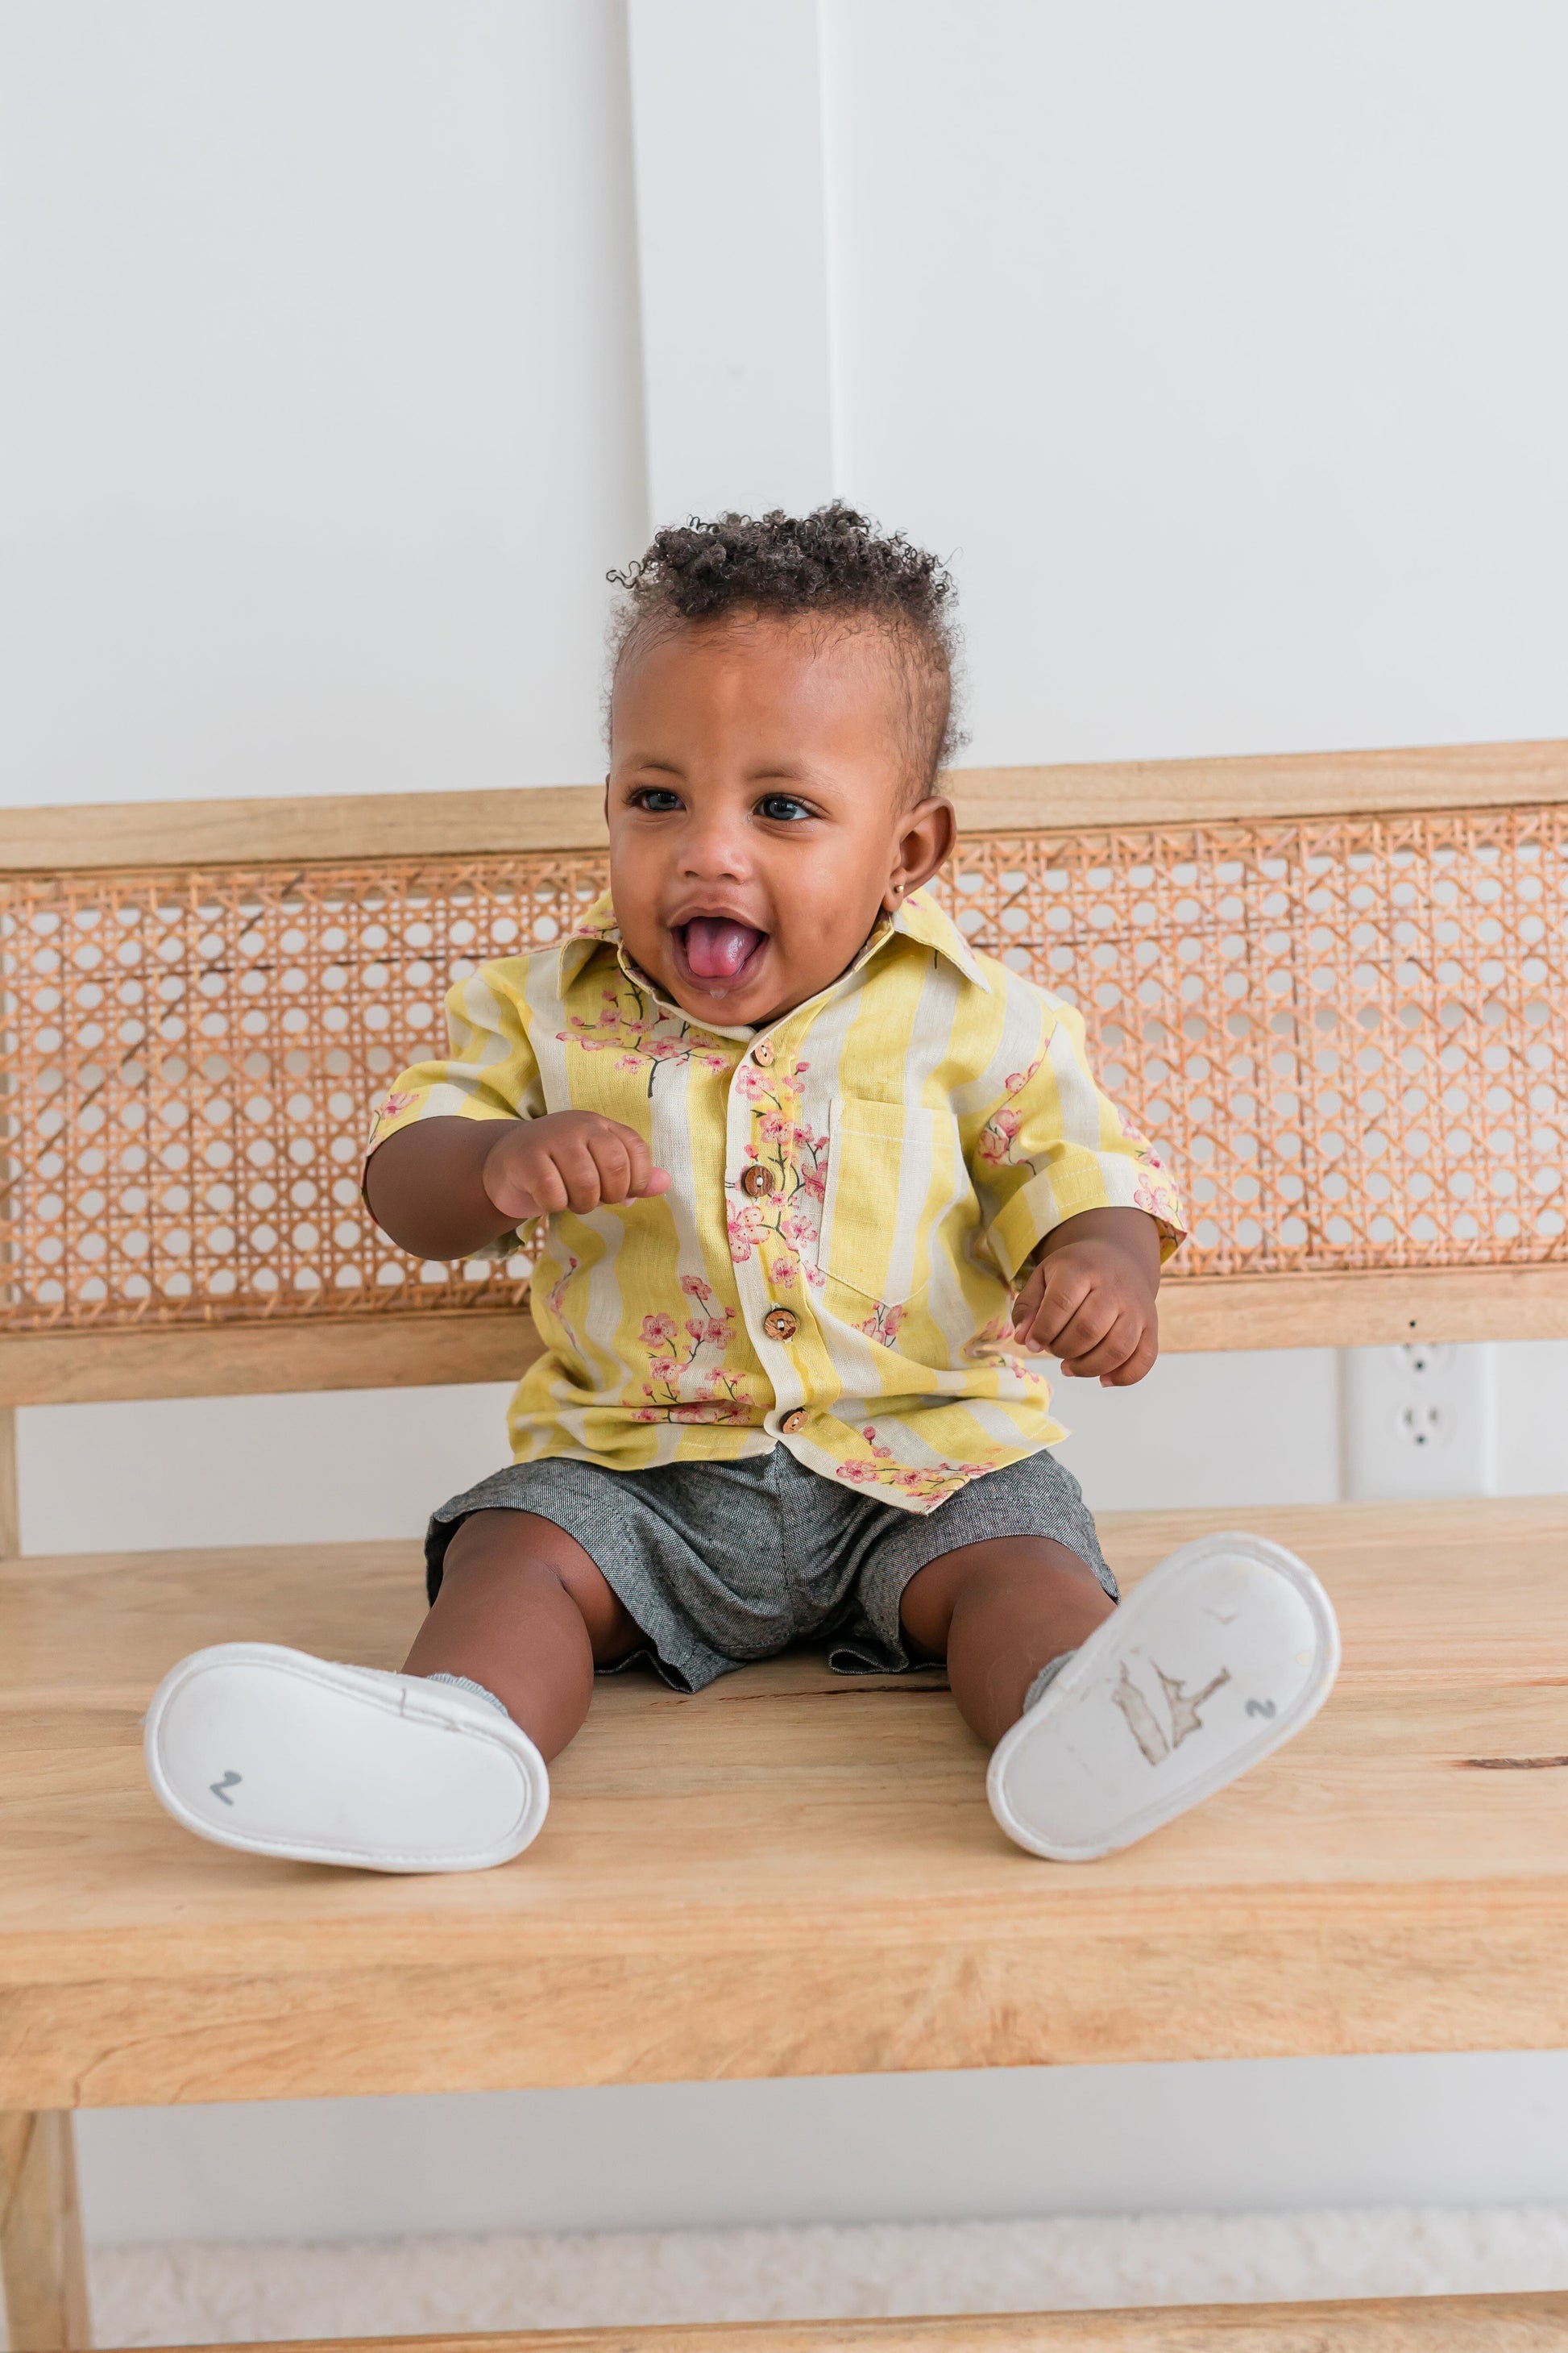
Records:
M1568 746L952 788L947 904L1084 1002L1187 1181L1166 1348L1568 1332ZM559 936L602 842L595 791L12 812L0 1405L515 1374L522 1271L414 1266L355 1162L447 976ZM16 2353L89 2341L82 2106L1568 2042L1568 1501L1248 1513L1328 1584L1340 1689L1262 1772L1093 1868L1009 1847L931 1682L802 1657L698 1699L609 1685L522 1864L383 1880L183 1835L139 1715L212 1640L397 1664L414 1544L42 1565L14 1558L9 1468L0 1499ZM1135 1577L1227 1518L1110 1515L1107 1553ZM1507 1612L1479 1560L1507 1560ZM1561 2299L1443 2299L489 2344L1563 2332Z

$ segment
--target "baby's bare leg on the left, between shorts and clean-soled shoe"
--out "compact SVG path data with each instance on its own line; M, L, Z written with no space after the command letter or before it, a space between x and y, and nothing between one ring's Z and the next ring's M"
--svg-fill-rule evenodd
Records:
M534 1511L475 1511L447 1546L442 1591L404 1673L482 1682L550 1760L588 1715L595 1666L625 1659L639 1640L564 1527Z

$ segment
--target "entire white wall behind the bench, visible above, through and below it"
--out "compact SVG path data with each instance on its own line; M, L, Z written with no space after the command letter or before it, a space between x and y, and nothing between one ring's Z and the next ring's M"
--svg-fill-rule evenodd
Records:
M771 466L952 553L976 760L1568 732L1554 0L769 0L788 75L733 0L630 7L628 66L616 0L12 0L0 800L590 776L644 478L679 513ZM788 402L755 398L780 315L736 219L788 252ZM1568 1348L1500 1377L1500 1482L1561 1487ZM26 1541L407 1534L498 1405L26 1414ZM1321 1353L1168 1360L1067 1417L1095 1504L1338 1489ZM952 2212L1559 2198L1559 2073L132 2113L85 2151L108 2235L216 2228L216 2174L273 2181L223 2212L261 2233L898 2217L933 2181ZM592 2162L611 2113L656 2214ZM541 2167L545 2125L581 2162ZM494 2165L444 2179L487 2188L411 2200L409 2148L458 2146Z

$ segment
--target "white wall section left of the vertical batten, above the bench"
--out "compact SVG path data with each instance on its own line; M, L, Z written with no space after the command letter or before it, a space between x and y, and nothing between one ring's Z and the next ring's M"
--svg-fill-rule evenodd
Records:
M644 536L616 0L14 0L12 802L562 784Z

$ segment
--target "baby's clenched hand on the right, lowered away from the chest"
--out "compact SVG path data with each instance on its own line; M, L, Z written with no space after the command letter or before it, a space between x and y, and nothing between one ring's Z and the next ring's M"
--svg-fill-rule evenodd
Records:
M1072 1238L1072 1226L1135 1219L1145 1233ZM1039 1261L1013 1304L1013 1339L1034 1355L1058 1355L1074 1379L1131 1388L1159 1355L1159 1235L1140 1209L1100 1209L1058 1226L1063 1240ZM1150 1247L1152 1245L1152 1247Z

